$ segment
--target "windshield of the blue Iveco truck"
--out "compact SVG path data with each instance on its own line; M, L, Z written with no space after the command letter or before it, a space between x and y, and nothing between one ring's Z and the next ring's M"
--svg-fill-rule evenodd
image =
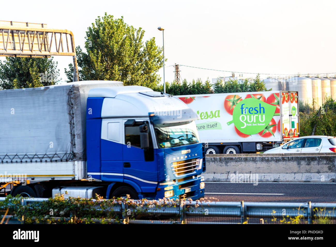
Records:
M154 124L159 148L170 148L200 142L195 121Z

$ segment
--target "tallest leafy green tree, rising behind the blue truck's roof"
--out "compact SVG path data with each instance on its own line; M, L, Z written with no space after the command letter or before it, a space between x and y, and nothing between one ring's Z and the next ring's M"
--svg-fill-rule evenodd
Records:
M80 80L114 80L124 85L156 87L163 66L162 48L152 38L143 44L144 31L107 15L95 20L86 32L86 52L76 47ZM73 66L65 70L72 81Z

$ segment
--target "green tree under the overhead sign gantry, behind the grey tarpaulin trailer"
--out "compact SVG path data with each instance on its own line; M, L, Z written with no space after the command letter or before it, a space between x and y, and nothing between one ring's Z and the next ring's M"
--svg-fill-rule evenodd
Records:
M59 70L53 57L6 57L0 61L0 78L0 89L50 86L59 81Z

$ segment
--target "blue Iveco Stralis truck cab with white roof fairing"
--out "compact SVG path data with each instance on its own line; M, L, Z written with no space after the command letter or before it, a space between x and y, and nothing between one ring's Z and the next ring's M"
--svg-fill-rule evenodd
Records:
M87 175L108 184L106 198L204 197L205 152L184 102L142 86L90 89Z

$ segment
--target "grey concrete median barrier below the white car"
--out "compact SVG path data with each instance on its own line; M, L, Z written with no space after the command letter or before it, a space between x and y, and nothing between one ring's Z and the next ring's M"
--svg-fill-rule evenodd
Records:
M206 166L206 181L336 181L336 153L206 155Z

